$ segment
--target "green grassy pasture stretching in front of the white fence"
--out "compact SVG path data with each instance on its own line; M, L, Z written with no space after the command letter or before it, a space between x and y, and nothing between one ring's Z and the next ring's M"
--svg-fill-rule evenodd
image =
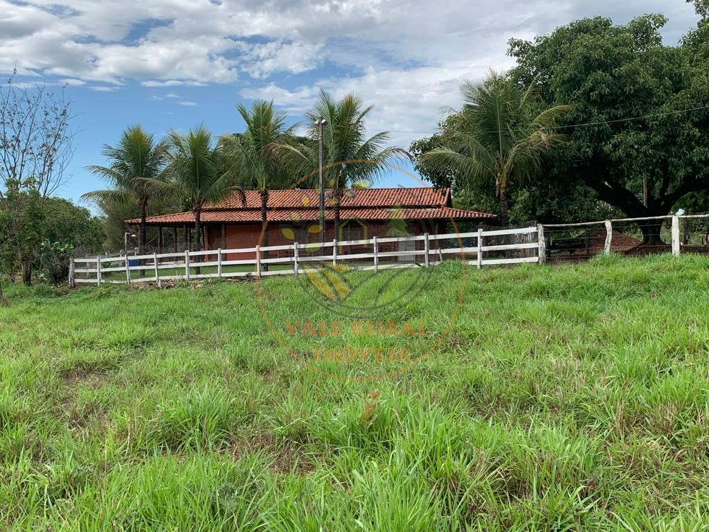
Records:
M441 331L461 273L398 319ZM274 323L301 282L259 287ZM349 382L281 348L252 282L8 287L0 528L705 530L708 291L692 256L468 270L440 348ZM320 369L396 370L373 363Z

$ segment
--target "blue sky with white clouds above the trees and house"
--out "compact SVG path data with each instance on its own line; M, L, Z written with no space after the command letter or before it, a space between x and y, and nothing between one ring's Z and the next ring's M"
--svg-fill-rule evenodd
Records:
M376 106L371 133L408 148L464 79L512 65L509 38L649 12L670 18L666 43L696 24L684 0L0 0L0 74L65 86L78 133L59 194L78 199L101 187L84 167L133 123L220 134L242 128L240 101L274 99L298 121L320 89L354 91ZM381 183L397 184L415 182Z

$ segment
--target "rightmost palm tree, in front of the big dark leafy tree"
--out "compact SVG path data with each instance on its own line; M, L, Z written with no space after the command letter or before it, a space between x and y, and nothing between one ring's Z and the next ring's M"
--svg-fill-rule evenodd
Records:
M555 131L569 106L542 109L534 84L522 89L490 72L479 84L461 87L464 107L446 131L447 146L421 155L433 169L454 169L462 179L493 179L501 225L508 223L508 187L540 172L552 145L566 140Z

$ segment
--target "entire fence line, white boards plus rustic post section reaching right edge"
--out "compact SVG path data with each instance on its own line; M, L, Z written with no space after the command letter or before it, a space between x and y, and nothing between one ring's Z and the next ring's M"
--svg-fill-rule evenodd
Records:
M391 250L392 245L398 250ZM709 255L709 214L332 240L324 244L74 258L69 267L69 284L298 275L311 271L318 262L347 265L354 270L389 270L435 266L460 256L467 264L481 268L588 260L599 253L679 255L683 251Z

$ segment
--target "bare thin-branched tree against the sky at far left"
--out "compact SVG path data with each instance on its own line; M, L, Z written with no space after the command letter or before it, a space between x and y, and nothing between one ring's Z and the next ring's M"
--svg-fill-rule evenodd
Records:
M54 194L65 183L74 148L70 102L45 84L14 82L16 72L0 87L0 199L9 184L33 179L40 196Z

